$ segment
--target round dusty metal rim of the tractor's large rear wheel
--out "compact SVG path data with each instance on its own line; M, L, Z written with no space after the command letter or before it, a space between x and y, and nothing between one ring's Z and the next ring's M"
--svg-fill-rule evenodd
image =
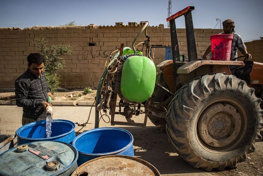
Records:
M216 103L198 120L198 134L209 146L224 147L233 142L240 132L241 120L237 109L228 103Z

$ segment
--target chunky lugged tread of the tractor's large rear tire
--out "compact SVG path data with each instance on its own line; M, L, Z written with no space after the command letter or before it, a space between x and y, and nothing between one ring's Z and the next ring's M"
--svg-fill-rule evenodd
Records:
M211 87L211 83L214 85ZM200 88L200 89L199 89ZM193 139L189 139L189 123L193 118L190 118L196 113L196 108L200 101L204 101L208 96L220 91L240 92L246 96L251 102L254 102L254 111L257 115L257 130L250 142L247 150L242 152L238 157L221 162L208 160L201 157L191 143ZM169 103L169 110L166 114L166 132L168 139L173 149L181 156L187 163L193 165L195 168L201 168L206 171L212 169L224 170L225 167L235 168L236 163L246 160L247 153L255 150L254 143L261 141L260 129L263 128L262 115L263 110L260 108L261 99L254 94L254 89L249 88L247 83L233 75L224 73L207 74L202 77L197 77L179 89L173 100ZM208 156L206 156L208 158Z

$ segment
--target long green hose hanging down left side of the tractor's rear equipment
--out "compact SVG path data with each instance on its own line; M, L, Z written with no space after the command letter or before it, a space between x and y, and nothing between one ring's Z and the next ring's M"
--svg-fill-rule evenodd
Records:
M125 50L131 50L131 48L124 47L123 51L125 51ZM112 59L119 57L119 54L120 54L120 51L118 51L114 55L114 57ZM107 74L107 71L108 71L108 68L105 68L105 70L104 70L104 72L103 72L103 74L102 74L102 76L100 78L100 82L99 82L99 85L98 85L98 88L97 88L96 101L95 101L95 127L94 128L98 128L99 127L99 111L96 110L96 108L97 108L98 104L100 103L100 91L101 91L101 88L102 88L102 83L104 81L104 78L105 78L105 76Z

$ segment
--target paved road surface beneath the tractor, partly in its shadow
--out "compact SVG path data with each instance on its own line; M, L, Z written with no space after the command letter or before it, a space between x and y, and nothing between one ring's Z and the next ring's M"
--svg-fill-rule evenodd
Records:
M87 121L89 112L90 107L54 106L53 119L71 120L73 122L82 124ZM21 117L22 108L17 106L0 106L1 133L14 134L15 131L22 125ZM80 132L94 128L94 117L95 112L93 109L89 123ZM139 117L136 116L136 118L132 119L134 119L135 122L143 122L144 115L140 115ZM119 116L116 120L123 120L123 118L122 116ZM105 123L101 120L100 127L110 126L111 125L109 123ZM154 165L159 170L161 175L222 175L222 172L205 172L203 170L193 168L192 166L185 163L172 149L171 145L168 142L166 132L163 132L155 127L149 119L146 128L118 125L115 125L114 127L121 127L131 132L131 134L134 136L134 155ZM77 126L76 131L78 131L80 128L81 127ZM262 142L258 142L258 144L261 145L262 149Z

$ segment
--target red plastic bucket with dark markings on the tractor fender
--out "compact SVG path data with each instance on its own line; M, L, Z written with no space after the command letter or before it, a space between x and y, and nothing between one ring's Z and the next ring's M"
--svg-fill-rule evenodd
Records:
M211 35L211 52L214 61L230 61L231 46L234 35L216 34Z

